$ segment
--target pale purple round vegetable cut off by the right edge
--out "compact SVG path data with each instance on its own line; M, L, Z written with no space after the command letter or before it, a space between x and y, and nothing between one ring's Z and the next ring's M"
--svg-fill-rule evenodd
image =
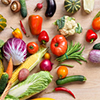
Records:
M91 50L89 53L89 61L100 63L100 50Z

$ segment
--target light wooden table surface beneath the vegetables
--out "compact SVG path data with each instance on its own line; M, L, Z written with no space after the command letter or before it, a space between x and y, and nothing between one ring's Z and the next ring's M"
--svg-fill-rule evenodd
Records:
M56 13L54 14L53 17L51 18L46 18L45 17L45 11L47 8L47 3L46 0L26 0L26 5L27 5L27 11L28 15L26 18L22 18L20 12L18 13L13 13L10 10L10 5L5 6L0 2L0 14L2 14L6 19L7 19L7 27L0 33L0 39L6 41L10 37L12 37L12 30L10 27L12 26L13 28L20 28L20 20L22 20L27 33L30 35L29 38L27 38L23 34L23 40L27 43L34 41L39 44L37 36L33 36L30 33L29 26L28 26L28 17L30 15L40 15L43 17L43 25L42 25L42 30L46 30L50 36L50 41L47 44L48 46L50 45L51 39L59 34L57 31L57 28L55 25L53 25L53 22L55 22L57 19L64 15L68 15L67 12L64 9L64 0L55 0L57 4L57 9ZM40 11L34 12L33 9L35 8L36 4L39 2L43 2L43 8ZM82 65L75 61L65 61L64 63L66 64L72 64L74 65L74 68L68 67L68 76L70 75L84 75L87 78L87 81L82 83L82 82L74 82L74 83L69 83L63 85L63 87L66 87L70 89L76 96L76 100L99 100L100 99L100 64L93 64L88 61L88 54L91 51L93 45L95 43L99 42L100 35L99 31L96 33L98 34L97 40L90 44L87 43L85 40L85 35L86 31L88 29L91 29L91 23L93 20L93 17L96 15L96 13L100 9L100 2L99 0L95 0L94 4L94 10L90 14L86 14L83 10L83 6L81 6L81 9L73 14L70 15L71 17L74 17L77 22L79 22L83 28L83 31L81 34L75 34L74 36L70 36L67 38L67 41L70 42L73 40L73 43L75 42L80 42L82 46L85 46L85 50L83 51L83 56L87 60L87 63L82 61ZM33 96L32 98L35 97L50 97L54 98L55 100L74 100L74 98L65 92L52 92L47 94L47 92L52 91L56 86L55 81L57 80L57 68L55 69L55 66L57 65L57 62L55 61L56 56L51 53L51 61L54 63L53 69L50 72L53 75L53 81L49 84L48 88L38 95ZM6 63L6 61L4 61ZM5 67L6 64L4 63ZM32 73L36 73L40 71L39 69L39 64L32 70Z

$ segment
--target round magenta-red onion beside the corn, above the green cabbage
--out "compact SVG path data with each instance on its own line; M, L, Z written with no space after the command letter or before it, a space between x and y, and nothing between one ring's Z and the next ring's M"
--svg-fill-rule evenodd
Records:
M43 71L51 71L52 70L52 65L53 65L53 63L51 63L50 60L44 59L40 63L40 69L43 70Z

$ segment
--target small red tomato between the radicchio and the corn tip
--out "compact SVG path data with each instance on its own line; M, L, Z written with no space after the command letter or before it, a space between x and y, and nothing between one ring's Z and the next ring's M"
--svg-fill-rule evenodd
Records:
M30 54L34 54L39 50L39 46L35 42L30 42L27 44L27 51Z

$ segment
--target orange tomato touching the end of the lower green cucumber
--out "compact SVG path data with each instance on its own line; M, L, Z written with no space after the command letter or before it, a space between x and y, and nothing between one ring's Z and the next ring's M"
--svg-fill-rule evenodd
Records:
M68 75L68 69L66 66L60 66L57 70L58 78L62 79Z

